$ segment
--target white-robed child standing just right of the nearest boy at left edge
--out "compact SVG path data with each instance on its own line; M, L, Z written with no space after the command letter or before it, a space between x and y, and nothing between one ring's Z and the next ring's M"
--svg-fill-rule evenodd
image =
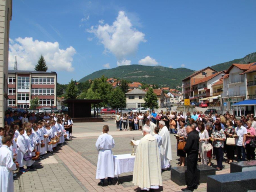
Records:
M27 147L25 137L23 135L25 132L25 129L23 127L19 127L18 132L19 132L19 135L17 138L17 146L18 146L17 160L19 164L19 172L24 174L28 172L28 169L24 168L26 161L23 159L24 155L28 152L28 147Z

